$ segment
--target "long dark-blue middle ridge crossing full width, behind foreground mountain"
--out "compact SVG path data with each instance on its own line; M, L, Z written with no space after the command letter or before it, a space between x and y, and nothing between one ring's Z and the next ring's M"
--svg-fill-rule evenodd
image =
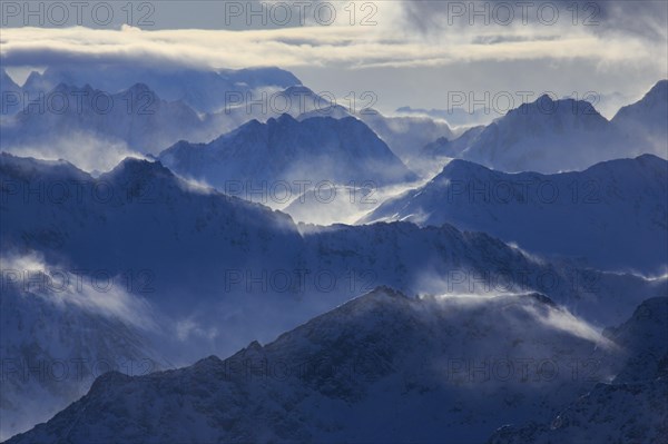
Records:
M370 285L390 285L409 295L537 290L590 322L611 325L665 286L665 279L580 269L572 262L550 263L487 234L446 224L424 228L407 221L297 225L281 211L188 184L157 161L128 158L94 178L65 161L3 154L0 178L3 251L38 251L47 264L104 269L111 276L150 269L154 292L144 296L168 312L170 307L183 312L183 298L193 294L202 306L210 300L242 303L235 294L253 303L247 296L253 290L245 285L226 288L226 270L248 272L253 277L276 270L327 272L337 286L328 287L325 279L320 292L313 282L307 287L293 282L294 288L282 292L263 292L252 283L259 299L283 293L273 303L304 307L307 313L292 313L302 322L323 306L332 308L369 290ZM183 257L193 259L184 264ZM591 283L579 282L580 272ZM356 286L345 280L351 273L360 278ZM485 274L495 280L485 280ZM366 289L361 288L363 283ZM630 287L637 290L635 298L627 295ZM328 297L303 299L316 293ZM603 299L608 309L599 313ZM189 304L186 310L196 308Z

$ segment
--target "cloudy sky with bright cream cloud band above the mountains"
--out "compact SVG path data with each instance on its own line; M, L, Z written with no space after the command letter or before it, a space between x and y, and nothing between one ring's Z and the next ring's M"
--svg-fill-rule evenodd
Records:
M3 1L0 13L0 60L17 79L91 61L278 66L315 91L373 91L384 112L446 109L460 92L464 107L503 109L550 92L611 117L668 77L664 0Z

